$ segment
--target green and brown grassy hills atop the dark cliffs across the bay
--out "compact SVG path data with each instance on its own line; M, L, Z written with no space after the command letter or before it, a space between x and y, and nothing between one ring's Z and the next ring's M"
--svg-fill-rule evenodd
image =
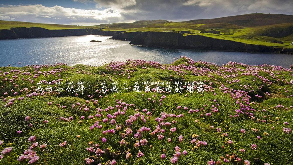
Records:
M284 14L252 13L213 19L181 22L166 20L136 21L133 23L112 23L96 26L73 26L40 24L15 21L0 21L0 29L12 27L42 27L53 29L102 28L105 31L177 31L184 35L205 35L223 40L234 40L247 44L293 48L293 16ZM200 33L220 31L220 34Z

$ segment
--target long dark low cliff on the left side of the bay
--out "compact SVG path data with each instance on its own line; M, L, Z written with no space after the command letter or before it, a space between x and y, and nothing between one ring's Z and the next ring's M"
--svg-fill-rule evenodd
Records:
M104 31L101 29L62 29L48 30L44 28L11 28L0 30L0 40L16 38L65 37L78 35L115 35L123 31Z

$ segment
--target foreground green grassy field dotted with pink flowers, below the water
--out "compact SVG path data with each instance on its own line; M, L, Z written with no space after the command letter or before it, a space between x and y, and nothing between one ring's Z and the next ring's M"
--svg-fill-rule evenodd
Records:
M181 57L1 67L0 77L0 164L293 164L292 69ZM171 92L134 86L166 81Z

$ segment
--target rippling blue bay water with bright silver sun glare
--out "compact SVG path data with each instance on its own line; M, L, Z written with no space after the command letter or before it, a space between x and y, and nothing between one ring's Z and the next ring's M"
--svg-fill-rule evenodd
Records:
M89 42L90 40L102 42ZM59 62L71 66L98 66L127 59L171 63L174 58L180 56L218 65L235 61L249 65L271 64L289 68L293 64L293 55L140 47L129 45L129 41L112 40L110 36L98 35L0 40L0 66ZM21 64L18 64L19 62Z

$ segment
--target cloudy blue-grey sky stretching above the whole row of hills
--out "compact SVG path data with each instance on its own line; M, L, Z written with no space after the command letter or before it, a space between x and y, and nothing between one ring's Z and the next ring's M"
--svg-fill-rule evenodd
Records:
M0 0L0 20L67 25L188 21L256 12L293 15L293 0Z

